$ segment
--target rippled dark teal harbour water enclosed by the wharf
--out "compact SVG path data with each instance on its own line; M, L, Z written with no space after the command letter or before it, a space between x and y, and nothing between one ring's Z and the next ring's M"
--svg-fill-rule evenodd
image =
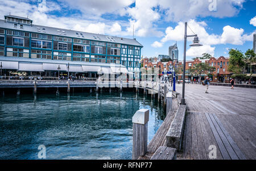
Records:
M131 159L132 116L150 109L148 143L164 119L150 97L132 92L0 97L0 159Z

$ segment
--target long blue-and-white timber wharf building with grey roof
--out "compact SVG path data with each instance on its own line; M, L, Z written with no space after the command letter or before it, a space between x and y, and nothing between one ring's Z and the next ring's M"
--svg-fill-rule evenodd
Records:
M31 19L20 16L6 15L5 20L0 20L0 60L5 62L5 66L2 62L1 69L15 70L15 67L7 66L10 65L7 64L9 59L19 61L20 64L36 62L37 59L51 64L79 64L84 68L86 65L114 65L126 68L129 72L139 72L142 47L135 39L38 26L32 24ZM36 69L34 65L34 70L18 66L17 70L46 72L47 68L43 64L43 68L38 66ZM80 73L90 71L76 70Z

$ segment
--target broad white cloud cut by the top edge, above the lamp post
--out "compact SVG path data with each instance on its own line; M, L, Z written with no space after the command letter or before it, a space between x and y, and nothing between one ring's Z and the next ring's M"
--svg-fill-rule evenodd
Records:
M238 14L245 0L218 0L216 11L210 11L211 2L202 0L159 0L162 9L166 9L166 20L179 22L197 16L213 16L217 18L230 17Z

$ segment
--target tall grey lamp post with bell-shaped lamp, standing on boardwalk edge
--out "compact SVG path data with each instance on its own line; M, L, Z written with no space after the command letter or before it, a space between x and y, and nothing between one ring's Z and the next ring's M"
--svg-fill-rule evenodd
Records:
M185 105L185 70L186 70L186 49L187 49L187 37L194 37L193 44L189 45L191 47L199 47L202 44L199 43L197 35L187 35L188 23L185 22L185 34L184 34L184 59L183 59L183 81L182 81L182 98L181 105Z

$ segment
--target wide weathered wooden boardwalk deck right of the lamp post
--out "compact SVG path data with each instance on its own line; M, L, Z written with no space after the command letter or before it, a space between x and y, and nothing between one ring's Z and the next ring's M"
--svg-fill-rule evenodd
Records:
M185 85L188 114L178 159L256 159L256 90ZM182 85L176 86L181 93Z

